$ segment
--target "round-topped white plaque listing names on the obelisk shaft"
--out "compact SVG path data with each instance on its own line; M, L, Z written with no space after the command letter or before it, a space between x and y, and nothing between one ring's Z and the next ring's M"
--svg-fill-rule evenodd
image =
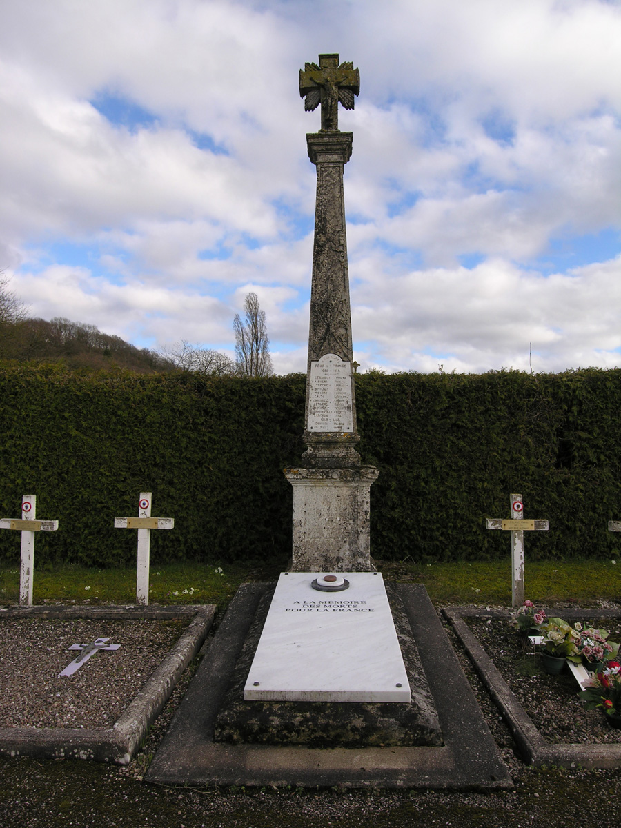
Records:
M308 431L354 431L351 363L324 354L310 363Z

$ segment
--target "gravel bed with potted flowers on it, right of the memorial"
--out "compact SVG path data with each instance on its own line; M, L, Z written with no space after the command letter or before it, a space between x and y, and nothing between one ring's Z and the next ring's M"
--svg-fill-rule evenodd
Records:
M559 610L562 618L562 610ZM498 619L466 619L494 665L543 738L551 744L619 743L621 730L609 726L599 710L586 710L574 676L566 668L549 676L539 647L532 647L507 622ZM611 641L621 641L617 619L585 618L585 626L609 630Z

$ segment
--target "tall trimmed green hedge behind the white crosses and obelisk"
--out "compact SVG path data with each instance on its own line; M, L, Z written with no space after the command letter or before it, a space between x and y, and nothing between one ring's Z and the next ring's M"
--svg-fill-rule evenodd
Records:
M37 535L39 564L133 561L135 532L114 517L174 517L152 533L152 560L278 560L291 553L291 489L301 462L302 375L81 375L0 368L0 516L22 494L60 529ZM381 469L371 495L380 559L491 560L508 537L484 517L508 517L509 493L550 532L527 556L610 556L621 538L621 371L530 375L382 373L356 378L363 461ZM16 532L0 557L17 561Z

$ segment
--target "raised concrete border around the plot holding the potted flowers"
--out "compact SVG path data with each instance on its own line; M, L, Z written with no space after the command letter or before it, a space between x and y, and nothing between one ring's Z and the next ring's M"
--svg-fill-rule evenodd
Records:
M619 619L621 609L546 609L548 615L561 615L567 622L582 621L585 618ZM531 717L517 700L498 668L472 633L464 619L503 619L508 622L511 612L502 609L481 609L480 607L451 607L442 613L455 629L464 645L484 686L489 691L503 719L513 733L517 747L524 761L531 765L561 765L571 768L620 768L621 744L551 744L537 730Z

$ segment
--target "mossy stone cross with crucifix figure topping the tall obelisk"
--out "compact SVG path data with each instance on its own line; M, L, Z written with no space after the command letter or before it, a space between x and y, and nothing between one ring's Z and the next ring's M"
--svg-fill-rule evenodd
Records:
M339 65L339 55L320 55L319 66L306 63L300 70L300 97L306 112L321 104L321 132L339 131L339 102L354 108L354 95L360 92L360 73L354 64Z

